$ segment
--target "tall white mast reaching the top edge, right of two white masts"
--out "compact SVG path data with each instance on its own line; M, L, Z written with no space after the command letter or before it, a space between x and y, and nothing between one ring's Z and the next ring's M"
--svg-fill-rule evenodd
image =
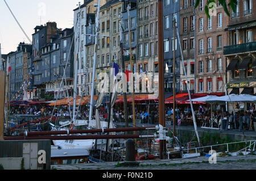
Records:
M97 9L97 18L96 18L96 35L95 35L95 44L94 44L94 55L93 55L93 77L92 77L92 90L90 94L90 113L89 121L92 120L93 113L93 97L94 97L94 79L96 73L96 55L97 55L97 45L98 45L98 26L99 26L99 16L100 16L100 0L98 0L98 9Z

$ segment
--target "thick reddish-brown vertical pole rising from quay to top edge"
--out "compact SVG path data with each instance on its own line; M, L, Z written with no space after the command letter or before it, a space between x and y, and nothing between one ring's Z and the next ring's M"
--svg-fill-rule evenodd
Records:
M159 69L159 127L166 126L164 120L164 57L163 57L163 1L158 0L158 69ZM166 140L164 132L159 139L160 159L166 157Z

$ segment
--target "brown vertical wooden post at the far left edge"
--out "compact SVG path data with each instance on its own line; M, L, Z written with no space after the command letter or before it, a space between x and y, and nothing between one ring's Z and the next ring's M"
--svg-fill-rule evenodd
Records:
M5 71L0 71L0 141L3 141L5 128Z

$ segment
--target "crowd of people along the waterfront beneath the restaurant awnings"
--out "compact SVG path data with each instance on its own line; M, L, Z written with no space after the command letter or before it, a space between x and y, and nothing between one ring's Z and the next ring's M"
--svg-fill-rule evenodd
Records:
M69 119L73 115L73 107L69 111L68 106L59 106L55 108L53 116L62 117ZM225 109L217 107L216 110L210 110L210 107L200 105L194 110L196 121L205 125L221 128L221 129L242 129L251 130L254 127L253 123L256 121L255 107L250 107L249 111L237 111L237 112L226 112ZM27 115L40 115L42 117L51 116L53 111L52 106L44 105L33 105L33 106L13 106L11 107L11 115L15 114L27 114ZM101 106L98 108L100 117L103 120L108 119L108 105ZM135 107L135 118L140 120L141 123L157 124L158 123L158 105L153 104L148 106ZM172 107L166 107L166 117L173 117L174 109ZM211 114L212 113L212 114ZM128 108L128 119L131 123L133 121L133 113L131 107ZM180 106L175 109L176 124L183 125L183 121L186 119L193 119L193 114L190 106ZM95 118L95 110L93 111ZM89 107L81 106L79 113L77 113L77 119L88 120ZM167 118L166 118L167 119ZM120 107L114 107L113 110L113 121L125 122L125 112Z

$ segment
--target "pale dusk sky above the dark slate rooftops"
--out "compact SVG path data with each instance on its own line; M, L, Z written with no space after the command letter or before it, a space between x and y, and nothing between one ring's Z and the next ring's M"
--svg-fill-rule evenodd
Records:
M81 0L6 0L31 41L34 28L40 24L56 22L57 27L63 30L72 28L73 9L76 9L79 1L81 4L84 2ZM0 0L0 22L2 54L15 51L20 42L29 43L3 0Z

